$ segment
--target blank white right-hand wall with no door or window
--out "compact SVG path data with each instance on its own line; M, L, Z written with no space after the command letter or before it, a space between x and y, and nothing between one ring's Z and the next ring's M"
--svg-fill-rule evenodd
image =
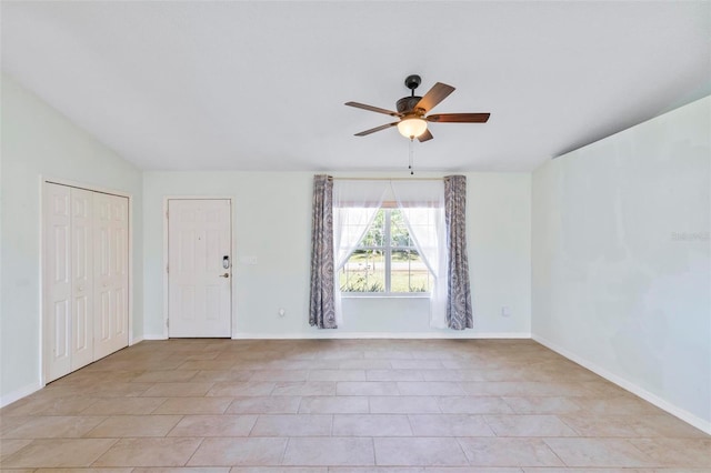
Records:
M711 98L533 173L534 339L711 432Z

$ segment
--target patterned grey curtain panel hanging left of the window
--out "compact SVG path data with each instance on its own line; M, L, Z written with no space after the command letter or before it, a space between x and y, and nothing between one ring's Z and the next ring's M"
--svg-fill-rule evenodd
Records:
M313 177L312 205L309 324L338 329L333 301L333 181L329 175Z

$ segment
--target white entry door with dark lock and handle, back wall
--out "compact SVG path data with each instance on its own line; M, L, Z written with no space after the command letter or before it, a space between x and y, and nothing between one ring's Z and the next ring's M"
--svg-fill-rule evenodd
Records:
M168 201L171 338L231 336L231 213L227 199Z

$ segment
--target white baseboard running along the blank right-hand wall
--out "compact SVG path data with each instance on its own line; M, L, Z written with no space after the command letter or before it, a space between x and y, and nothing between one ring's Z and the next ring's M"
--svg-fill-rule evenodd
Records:
M604 368L601 368L600 365L589 361L589 360L584 360L580 356L578 356L577 354L574 354L573 352L555 344L552 343L541 336L538 335L532 335L532 339L535 340L538 343L553 350L554 352L560 353L561 355L565 356L567 359L574 361L575 363L580 364L581 366L587 368L588 370L592 371L595 374L599 374L600 376L604 378L605 380L617 384L618 386L631 392L632 394L635 394L640 397L642 397L644 401L650 402L652 404L654 404L655 406L658 406L659 409L669 412L670 414L681 419L682 421L684 421L688 424L693 425L694 427L699 429L700 431L703 431L708 434L711 434L711 422L705 421L681 407L678 407L677 405L670 403L669 401L665 401L663 399L661 399L660 396L658 396L657 394L653 394L649 391L647 391L645 389L638 386L634 383L629 382L628 380L625 380L624 378L621 378L608 370L605 370Z

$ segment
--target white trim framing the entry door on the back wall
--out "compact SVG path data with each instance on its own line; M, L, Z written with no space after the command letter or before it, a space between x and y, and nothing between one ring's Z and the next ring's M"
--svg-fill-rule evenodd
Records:
M168 340L168 203L171 200L229 200L230 201L230 248L232 249L232 278L230 278L230 338L237 338L237 291L234 281L237 280L237 246L234 239L234 198L232 195L163 195L163 340Z

